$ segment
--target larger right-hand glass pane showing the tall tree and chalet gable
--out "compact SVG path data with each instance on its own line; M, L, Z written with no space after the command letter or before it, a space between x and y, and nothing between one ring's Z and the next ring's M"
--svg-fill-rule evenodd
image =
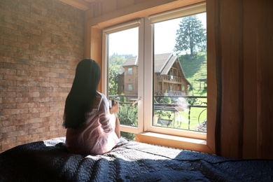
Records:
M153 126L207 132L206 13L153 27Z

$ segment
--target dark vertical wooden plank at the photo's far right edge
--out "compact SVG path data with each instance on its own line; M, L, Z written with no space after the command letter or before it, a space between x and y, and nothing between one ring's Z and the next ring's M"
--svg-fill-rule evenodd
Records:
M257 6L258 157L273 159L273 1Z

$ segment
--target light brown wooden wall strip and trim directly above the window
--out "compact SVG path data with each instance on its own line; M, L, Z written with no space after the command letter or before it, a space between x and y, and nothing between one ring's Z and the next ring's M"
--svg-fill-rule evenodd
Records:
M104 3L99 2L99 4L102 5L102 13L95 13L94 17L85 19L85 22L92 26L98 26L102 29L104 27L116 25L120 22L143 18L144 16L153 15L165 10L172 10L174 8L204 1L205 0L149 0L141 3L133 3L134 1L128 1L132 4L129 5L129 3L126 3L126 7L124 7L118 6L121 0L106 0ZM89 11L97 12L97 7L94 7L94 5L85 13L90 13Z

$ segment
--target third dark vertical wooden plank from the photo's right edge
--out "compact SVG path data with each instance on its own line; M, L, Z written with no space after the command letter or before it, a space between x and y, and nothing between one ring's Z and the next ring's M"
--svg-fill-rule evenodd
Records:
M241 1L221 1L221 64L223 105L221 155L238 157L242 117L242 6ZM232 144L232 145L230 145Z

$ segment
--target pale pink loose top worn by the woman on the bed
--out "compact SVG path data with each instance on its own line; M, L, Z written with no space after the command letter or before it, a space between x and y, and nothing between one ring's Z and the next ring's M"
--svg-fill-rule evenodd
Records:
M86 123L78 129L66 130L66 148L71 153L102 155L118 144L116 116L110 114L105 95L99 93Z

